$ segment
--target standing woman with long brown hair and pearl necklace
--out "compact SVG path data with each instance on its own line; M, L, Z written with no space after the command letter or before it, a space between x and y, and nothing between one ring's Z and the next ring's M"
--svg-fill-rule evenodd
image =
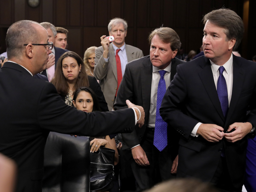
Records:
M51 83L54 84L65 103L70 106L72 106L76 89L82 86L90 87L97 95L101 110L108 111L101 87L93 76L86 74L83 60L75 52L69 51L60 57Z

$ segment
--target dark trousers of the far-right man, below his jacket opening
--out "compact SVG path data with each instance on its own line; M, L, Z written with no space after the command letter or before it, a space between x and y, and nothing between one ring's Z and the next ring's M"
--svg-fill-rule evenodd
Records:
M211 183L221 192L241 192L241 188L235 188L232 184L230 174L227 169L226 158L221 157L217 170L211 180Z

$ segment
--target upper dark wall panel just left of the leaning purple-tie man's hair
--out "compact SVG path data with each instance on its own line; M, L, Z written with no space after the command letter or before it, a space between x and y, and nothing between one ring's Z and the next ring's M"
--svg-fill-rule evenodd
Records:
M147 0L137 1L137 27L147 27L147 18L148 18L147 9L148 9Z

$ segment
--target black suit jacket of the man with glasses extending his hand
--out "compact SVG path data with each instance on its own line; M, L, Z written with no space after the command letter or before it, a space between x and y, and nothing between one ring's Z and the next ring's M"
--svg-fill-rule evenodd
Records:
M18 192L41 192L49 131L104 136L135 124L132 109L85 113L68 106L53 84L11 62L0 69L0 93L0 153L18 165Z

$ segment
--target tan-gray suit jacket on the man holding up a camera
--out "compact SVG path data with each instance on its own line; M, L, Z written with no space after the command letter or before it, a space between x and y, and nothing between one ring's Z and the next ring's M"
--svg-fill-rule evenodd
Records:
M132 60L143 57L142 50L134 46L125 44L125 51L128 63ZM108 103L108 108L112 111L117 89L117 67L113 44L109 45L108 57L109 61L106 62L103 57L102 46L95 50L94 76L99 80L101 90L106 102Z

